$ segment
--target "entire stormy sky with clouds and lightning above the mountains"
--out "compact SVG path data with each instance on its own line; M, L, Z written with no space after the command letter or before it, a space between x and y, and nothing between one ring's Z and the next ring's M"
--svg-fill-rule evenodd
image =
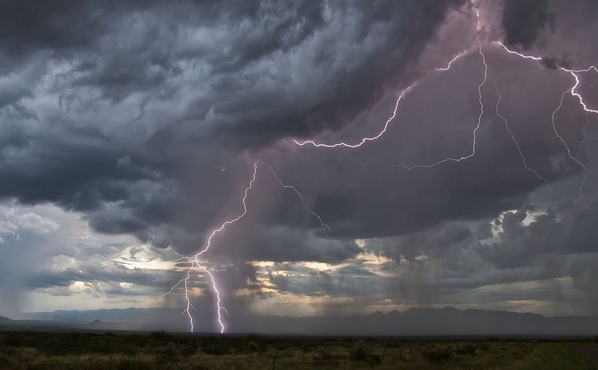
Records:
M596 34L593 0L2 2L0 315L596 315Z

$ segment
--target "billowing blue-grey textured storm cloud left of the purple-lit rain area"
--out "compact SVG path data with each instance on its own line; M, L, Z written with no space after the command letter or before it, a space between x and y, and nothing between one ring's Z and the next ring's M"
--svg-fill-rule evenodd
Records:
M388 76L462 2L425 11L414 1L4 4L0 44L16 80L0 91L8 118L0 193L94 211L90 223L101 232L144 235L184 223L172 209L185 162L218 162L216 145L234 156L341 128L382 96ZM351 44L370 54L347 69ZM318 73L289 91L292 70L278 66L289 62ZM308 82L321 75L325 86ZM190 87L203 92L182 95ZM58 107L37 104L56 98ZM181 99L187 104L177 107Z

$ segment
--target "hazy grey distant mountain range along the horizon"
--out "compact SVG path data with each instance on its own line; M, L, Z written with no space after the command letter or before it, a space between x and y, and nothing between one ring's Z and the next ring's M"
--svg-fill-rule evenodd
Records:
M54 311L25 314L25 320L0 317L3 326L59 326L90 330L160 330L187 332L189 322L172 308L126 308ZM7 321L8 320L8 321ZM545 317L509 311L420 309L351 317L280 317L239 315L225 317L228 333L342 336L594 336L598 317ZM212 313L194 313L196 332L217 332Z

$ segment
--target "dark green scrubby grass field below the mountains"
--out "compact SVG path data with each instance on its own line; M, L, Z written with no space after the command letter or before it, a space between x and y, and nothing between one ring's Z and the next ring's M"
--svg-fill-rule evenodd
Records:
M598 344L594 344L598 345ZM570 342L0 332L0 369L594 369Z

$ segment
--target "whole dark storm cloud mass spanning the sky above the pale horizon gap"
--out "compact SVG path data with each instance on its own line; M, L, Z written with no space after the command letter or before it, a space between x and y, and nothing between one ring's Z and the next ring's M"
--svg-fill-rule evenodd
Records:
M481 87L485 110L475 156L405 168L471 150L481 56L474 50L442 74L418 67L441 66L454 56L456 50L435 51L437 44L463 31L442 31L448 36L441 38L439 30L447 14L457 17L451 10L465 4L2 4L0 196L52 202L83 213L95 231L135 235L164 255L167 247L190 254L205 243L206 232L242 212L240 196L259 158L284 184L300 184L305 204L258 165L246 217L216 236L206 254L222 262L214 271L227 289L258 290L260 271L249 260L355 259L362 249L354 238L368 239L367 250L391 260L377 268L399 274L394 263L408 274L381 278L352 262L336 272L289 267L297 274L267 278L282 292L351 295L362 303L372 281L380 283L373 292L380 296L401 292L426 303L463 289L557 274L575 276L589 289L595 269L576 257L596 251L595 179L590 175L582 201L553 207L525 225L526 212L535 210L530 193L539 194L542 206L560 198L524 168L495 113L494 83L527 165L565 198L575 198L582 169L568 159L550 122L571 82L554 65L573 65L576 58L547 51L544 65L521 62L483 43L490 80ZM548 1L505 0L505 41L523 49L542 44L554 24L552 11ZM475 29L470 26L464 29ZM396 92L416 80L375 144L321 150L289 148L285 141L318 135L336 141L348 132L354 142L362 132L371 135L392 113ZM585 119L571 107L566 100L557 127L575 143ZM588 126L588 141L573 145L583 153L579 158L590 154L594 141ZM306 206L328 223L329 235ZM493 227L501 233L493 235ZM553 268L554 256L570 265ZM575 274L575 266L584 273ZM147 271L122 265L42 271L28 287L148 283ZM172 281L175 275L158 287ZM111 285L105 292L130 290Z

